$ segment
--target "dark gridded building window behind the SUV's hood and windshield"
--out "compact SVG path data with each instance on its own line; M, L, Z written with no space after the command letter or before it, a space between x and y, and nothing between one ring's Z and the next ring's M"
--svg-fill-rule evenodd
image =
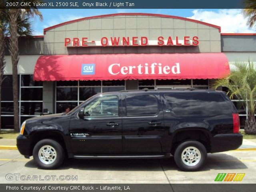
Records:
M125 89L124 80L112 81L58 81L56 82L56 113L71 110L91 96Z

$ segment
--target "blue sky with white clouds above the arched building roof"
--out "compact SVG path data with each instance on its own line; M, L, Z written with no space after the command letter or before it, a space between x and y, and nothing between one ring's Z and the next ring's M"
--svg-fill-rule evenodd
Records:
M222 33L256 33L248 28L241 9L40 9L43 21L33 20L34 35L43 35L44 28L62 22L111 13L155 13L180 16L221 26Z

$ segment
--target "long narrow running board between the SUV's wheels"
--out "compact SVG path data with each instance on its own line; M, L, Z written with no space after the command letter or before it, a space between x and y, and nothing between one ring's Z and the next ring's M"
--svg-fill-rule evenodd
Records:
M161 155L74 155L75 159L157 159L170 157L170 153Z

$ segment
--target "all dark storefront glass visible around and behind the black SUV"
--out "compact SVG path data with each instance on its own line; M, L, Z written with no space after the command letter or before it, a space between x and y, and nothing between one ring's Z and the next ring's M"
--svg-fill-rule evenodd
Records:
M43 82L33 81L32 74L22 74L18 78L18 90L20 96L19 112L20 122L40 116L43 112ZM66 108L73 109L84 100L97 93L125 90L125 80L113 81L58 81L55 88L55 111L65 112ZM208 89L209 80L138 80L138 89L163 88L198 88ZM224 91L227 91L223 88ZM1 119L2 128L13 128L14 108L12 95L12 75L4 75L2 84ZM238 109L241 128L244 128L246 121L246 109L242 107L241 101L232 100Z

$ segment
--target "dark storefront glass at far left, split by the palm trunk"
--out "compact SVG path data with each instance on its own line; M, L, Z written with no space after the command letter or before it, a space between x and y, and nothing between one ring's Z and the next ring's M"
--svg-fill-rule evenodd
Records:
M12 75L4 75L2 84L1 119L2 128L13 128L14 108ZM20 122L42 113L43 84L35 82L32 74L18 75Z

